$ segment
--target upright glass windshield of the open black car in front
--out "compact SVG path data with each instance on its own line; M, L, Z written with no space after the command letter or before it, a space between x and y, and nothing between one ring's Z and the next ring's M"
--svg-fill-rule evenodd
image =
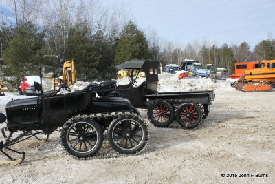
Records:
M54 92L54 68L41 65L41 76L43 92Z

